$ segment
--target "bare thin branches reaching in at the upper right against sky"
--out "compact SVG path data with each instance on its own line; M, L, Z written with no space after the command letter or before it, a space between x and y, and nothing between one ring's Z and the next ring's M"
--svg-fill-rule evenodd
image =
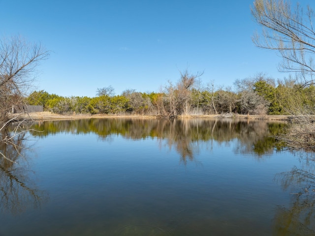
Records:
M262 27L254 34L257 47L276 50L283 58L280 71L299 73L304 85L314 83L315 31L314 11L306 11L297 3L293 9L285 0L255 0L252 7L254 20Z

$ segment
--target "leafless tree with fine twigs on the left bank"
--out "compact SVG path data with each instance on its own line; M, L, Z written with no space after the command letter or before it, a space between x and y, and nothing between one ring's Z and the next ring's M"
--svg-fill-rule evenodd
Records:
M10 113L14 107L23 106L36 67L48 55L49 51L40 44L30 44L19 36L0 39L0 132L17 119L17 115L10 116ZM0 142L9 138L11 135L5 135Z

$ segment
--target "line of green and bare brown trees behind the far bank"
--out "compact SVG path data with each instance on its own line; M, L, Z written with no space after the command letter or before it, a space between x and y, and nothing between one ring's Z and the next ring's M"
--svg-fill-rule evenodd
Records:
M168 82L159 93L126 89L115 95L114 88L108 86L97 89L96 96L90 98L63 97L41 90L32 92L26 102L58 114L290 115L292 109L315 113L315 86L302 86L291 77L276 82L260 73L236 79L233 87L224 88L214 81L204 84L201 75L185 70L176 84Z

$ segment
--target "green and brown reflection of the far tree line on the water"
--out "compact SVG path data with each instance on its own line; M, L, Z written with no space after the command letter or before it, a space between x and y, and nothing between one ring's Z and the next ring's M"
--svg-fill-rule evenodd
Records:
M212 148L213 141L228 144L237 140L236 153L254 152L259 158L274 148L274 135L284 127L284 123L272 123L257 120L237 119L81 119L67 121L47 121L37 123L35 129L41 131L34 135L46 136L61 132L71 134L97 134L102 139L111 135L122 135L125 138L143 139L157 138L160 145L175 148L183 163L194 160L199 145L206 143Z

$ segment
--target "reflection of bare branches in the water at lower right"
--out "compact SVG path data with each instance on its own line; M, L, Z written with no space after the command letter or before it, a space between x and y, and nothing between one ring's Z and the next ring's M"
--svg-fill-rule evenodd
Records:
M274 235L315 235L315 160L314 154L301 151L301 169L293 167L276 175L276 181L290 191L290 206L278 206Z

